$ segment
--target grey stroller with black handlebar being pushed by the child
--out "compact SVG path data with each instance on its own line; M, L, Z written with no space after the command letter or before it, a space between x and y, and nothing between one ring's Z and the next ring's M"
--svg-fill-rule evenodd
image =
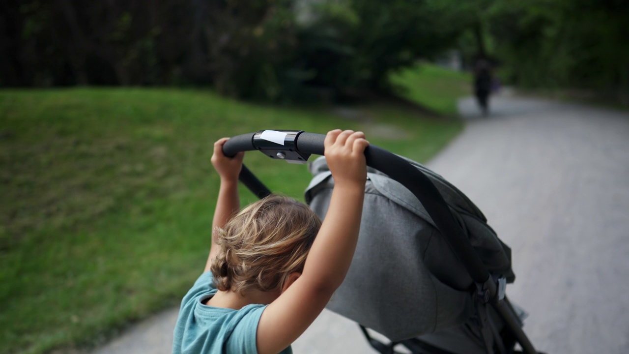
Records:
M323 155L325 135L260 130L231 138L226 156L259 150L306 163ZM522 330L525 312L504 294L511 250L455 186L421 164L376 146L365 150L367 185L359 243L327 307L359 323L379 353L537 353ZM334 186L325 158L309 166L309 206L323 219ZM240 181L270 194L245 166ZM367 328L386 336L377 340ZM516 343L522 351L515 351Z

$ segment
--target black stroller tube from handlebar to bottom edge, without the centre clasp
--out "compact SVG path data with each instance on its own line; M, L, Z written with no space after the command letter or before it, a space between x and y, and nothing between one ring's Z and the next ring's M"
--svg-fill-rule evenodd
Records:
M283 132L287 132L287 130L283 130ZM270 145L274 151L296 149L301 154L324 155L325 147L323 142L325 135L306 133L299 130L292 132L294 141L291 141L290 145L284 146L282 144L269 144L269 142L265 142L264 147L268 148ZM259 133L260 132L242 134L232 137L223 146L223 154L231 157L241 151L260 150L264 152L263 147L256 144L253 139L254 135L259 135ZM435 223L435 226L437 226L437 229L441 232L443 237L445 237L450 248L457 254L469 272L470 277L476 283L479 295L481 295L481 300L489 302L494 306L496 311L503 317L506 324L508 324L509 329L513 331L516 340L520 343L525 353L537 353L532 343L521 329L520 322L516 319L513 309L509 309L509 303L505 302L504 299L498 299L496 282L489 275L489 271L487 271L482 264L481 258L479 258L474 248L469 244L464 231L452 216L447 203L445 203L442 195L428 177L403 158L377 146L371 145L365 149L365 159L367 166L375 168L387 174L387 176L393 180L398 181L420 200L426 212L428 212L428 215L430 215ZM239 179L259 198L263 198L271 193L245 166L243 166L240 172Z

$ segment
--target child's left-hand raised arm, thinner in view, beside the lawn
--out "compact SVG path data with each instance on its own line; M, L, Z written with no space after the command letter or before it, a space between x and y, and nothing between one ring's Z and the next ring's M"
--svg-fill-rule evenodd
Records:
M238 152L234 157L223 155L223 145L230 138L219 139L214 143L214 154L212 154L212 164L218 175L221 177L221 188L218 191L216 200L216 210L212 220L212 246L209 250L208 261L204 271L209 271L214 256L218 254L216 246L216 228L224 227L230 217L240 209L240 199L238 198L238 174L242 169L244 152Z

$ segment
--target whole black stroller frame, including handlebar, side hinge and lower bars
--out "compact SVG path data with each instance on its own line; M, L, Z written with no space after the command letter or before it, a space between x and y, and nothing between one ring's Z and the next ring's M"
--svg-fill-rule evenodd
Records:
M324 154L324 140L325 135L323 134L306 133L302 130L259 130L255 133L232 137L223 146L223 153L225 156L234 156L241 151L259 150L272 159L284 159L289 163L306 163L311 154ZM401 183L424 205L435 226L474 280L477 308L493 307L503 319L504 330L508 332L509 338L513 338L520 344L523 353L538 353L522 330L522 323L516 316L513 306L504 295L504 278L494 277L487 271L481 258L467 241L464 231L455 221L442 195L428 177L403 158L377 146L371 145L365 149L365 159L367 166L375 168ZM271 194L271 191L246 166L242 167L239 180L259 198ZM478 312L481 314L480 312L483 311L479 310ZM386 345L372 338L364 327L360 326L360 328L369 344L383 354L395 353L394 346L398 344L406 346L417 354L449 353L418 338ZM491 331L491 329L487 330ZM494 350L498 353L512 352L505 350L501 336L492 334L494 333L483 336L487 353L493 354ZM492 338L493 342L489 338Z

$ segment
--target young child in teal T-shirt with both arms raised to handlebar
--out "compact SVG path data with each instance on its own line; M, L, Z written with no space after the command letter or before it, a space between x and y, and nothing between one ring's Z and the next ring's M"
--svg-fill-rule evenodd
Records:
M326 135L335 187L321 224L303 203L274 195L238 212L243 153L225 157L227 140L214 144L212 156L221 186L208 263L181 302L172 352L292 353L352 261L369 142L352 130Z

